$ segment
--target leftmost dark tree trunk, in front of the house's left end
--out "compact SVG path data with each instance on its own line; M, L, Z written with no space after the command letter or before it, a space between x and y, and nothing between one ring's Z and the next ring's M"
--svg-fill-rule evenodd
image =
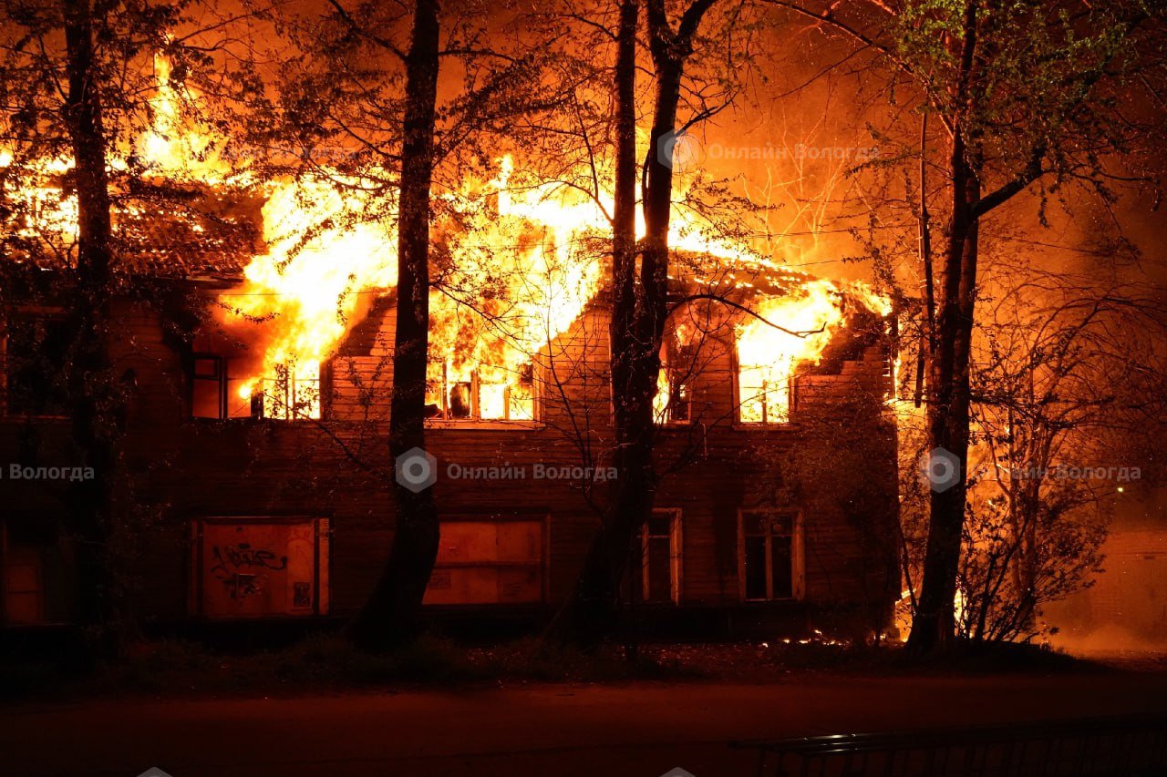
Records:
M102 653L121 645L119 604L110 540L117 516L114 478L124 413L111 379L107 331L113 293L110 190L102 118L100 76L93 52L93 9L89 0L64 5L69 80L65 119L77 188L77 273L69 315L71 363L67 388L72 440L95 477L71 490L74 530L79 540L81 620L99 626Z

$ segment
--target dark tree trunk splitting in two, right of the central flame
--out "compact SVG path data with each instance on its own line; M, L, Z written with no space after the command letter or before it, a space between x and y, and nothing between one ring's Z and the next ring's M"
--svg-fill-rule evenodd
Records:
M613 242L616 259L610 364L616 483L603 525L588 548L572 598L552 624L553 637L566 638L585 650L599 645L615 623L616 597L628 565L629 548L652 512L656 497L652 399L661 372L661 343L668 317L669 218L672 212L672 166L657 152L668 147L666 141L676 130L685 62L692 55L692 40L701 18L713 1L697 0L689 6L678 30L671 28L663 0L648 0L647 5L657 89L643 192L645 235L640 246L638 276L635 258L628 261L627 251L621 253L627 245L627 233L621 233L628 228L626 222L617 223ZM624 123L635 119L631 104L635 96L635 41L626 41L626 36L635 36L635 14L634 2L626 1L621 6L621 47L616 69L621 98L617 161L622 160L623 166L617 167L617 176L627 176L630 167L627 154L630 141L624 135ZM635 195L635 178L630 187L627 177L617 177L616 186L617 196L624 202ZM617 218L627 219L627 211Z

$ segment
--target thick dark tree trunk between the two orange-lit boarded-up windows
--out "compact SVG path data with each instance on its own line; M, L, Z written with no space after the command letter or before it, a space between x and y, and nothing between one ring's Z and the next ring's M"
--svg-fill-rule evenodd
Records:
M439 6L418 0L406 57L401 191L398 205L397 332L389 450L393 461L425 448L426 362L429 337L429 196L438 99ZM438 555L433 489L406 488L398 478L397 522L389 560L351 624L354 643L384 651L415 637L421 600Z

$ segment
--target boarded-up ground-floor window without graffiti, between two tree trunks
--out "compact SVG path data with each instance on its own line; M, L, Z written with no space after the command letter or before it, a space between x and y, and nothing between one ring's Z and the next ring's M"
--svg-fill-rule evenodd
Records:
M519 604L545 601L546 520L453 518L441 541L426 604Z

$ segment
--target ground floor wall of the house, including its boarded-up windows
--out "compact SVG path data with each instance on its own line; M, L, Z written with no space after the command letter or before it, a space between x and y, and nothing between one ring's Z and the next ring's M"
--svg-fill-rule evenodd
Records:
M886 622L897 593L894 497L879 514L848 511L830 488L792 501L773 471L789 432L743 444L740 430L713 430L696 454L689 435L664 435L663 459L689 461L664 477L629 548L624 607L638 622L710 635L801 631L836 616L852 630ZM434 429L428 441L443 526L429 609L453 621L548 615L599 525L602 464L589 471L552 429ZM392 473L369 446L261 421L134 438L127 462L139 475L119 552L135 611L145 623L355 612L392 541ZM16 485L0 509L4 622L68 622L68 482L4 484Z

